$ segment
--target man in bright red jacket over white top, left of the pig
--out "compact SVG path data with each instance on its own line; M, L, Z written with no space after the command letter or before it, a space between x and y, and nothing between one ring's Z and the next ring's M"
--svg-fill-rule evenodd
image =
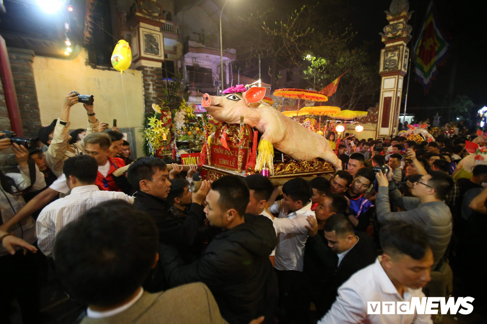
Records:
M113 171L125 166L120 158L110 157L110 144L112 140L107 134L93 133L85 138L86 154L93 157L98 162L98 176L95 184L100 190L121 191L112 177Z

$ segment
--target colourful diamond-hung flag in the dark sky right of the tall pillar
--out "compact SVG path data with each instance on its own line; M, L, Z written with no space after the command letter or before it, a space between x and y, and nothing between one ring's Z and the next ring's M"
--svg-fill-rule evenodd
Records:
M436 77L436 66L444 62L449 49L450 44L438 29L431 0L423 29L414 45L416 81L423 85L425 93L431 87L431 80Z

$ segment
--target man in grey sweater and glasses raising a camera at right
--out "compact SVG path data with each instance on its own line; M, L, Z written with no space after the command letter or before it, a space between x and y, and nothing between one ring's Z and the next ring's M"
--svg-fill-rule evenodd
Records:
M431 251L433 252L434 270L447 250L452 230L450 208L445 204L445 196L450 192L453 180L447 174L433 171L424 175L421 180L413 184L411 189L415 197L403 197L397 190L392 179L391 171L387 176L377 173L379 185L375 198L377 219L403 220L417 225L425 230L429 236ZM404 212L391 212L391 204Z

